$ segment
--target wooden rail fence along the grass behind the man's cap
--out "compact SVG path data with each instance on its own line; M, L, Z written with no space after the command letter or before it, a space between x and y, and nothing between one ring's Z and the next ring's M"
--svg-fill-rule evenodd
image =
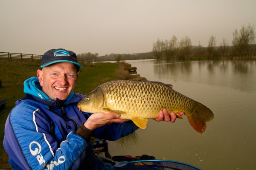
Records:
M8 59L10 61L12 60L40 60L42 59L43 55L37 55L37 54L22 54L22 53L9 53L9 52L0 52L0 59ZM93 65L93 59L82 59L78 58L78 62L81 64L92 64Z

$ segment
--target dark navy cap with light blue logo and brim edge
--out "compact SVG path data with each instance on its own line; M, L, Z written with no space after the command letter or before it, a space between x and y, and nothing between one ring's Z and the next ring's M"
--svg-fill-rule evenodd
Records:
M78 70L79 68L82 68L82 66L77 61L76 53L73 51L67 51L62 48L52 49L45 52L41 60L41 68L56 62L71 62L77 66Z

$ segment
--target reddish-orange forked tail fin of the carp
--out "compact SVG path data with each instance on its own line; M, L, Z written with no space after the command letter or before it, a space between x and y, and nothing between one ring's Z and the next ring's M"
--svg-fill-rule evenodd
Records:
M206 122L209 122L214 118L212 111L205 105L196 102L197 109L191 116L187 116L190 125L198 132L204 133L206 129Z

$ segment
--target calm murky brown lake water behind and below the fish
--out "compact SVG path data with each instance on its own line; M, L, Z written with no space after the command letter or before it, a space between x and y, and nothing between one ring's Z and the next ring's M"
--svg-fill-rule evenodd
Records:
M127 61L151 81L172 84L175 91L203 103L215 118L197 133L185 115L175 123L149 120L137 130L137 142L108 142L114 155L182 161L204 170L256 169L256 61Z

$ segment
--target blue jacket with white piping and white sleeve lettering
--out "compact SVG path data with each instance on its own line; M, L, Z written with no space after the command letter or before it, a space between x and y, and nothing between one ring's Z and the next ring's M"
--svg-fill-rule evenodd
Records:
M5 125L3 146L13 169L113 168L95 158L90 142L75 133L90 116L77 108L84 95L72 92L63 104L52 101L41 91L37 77L24 82L24 93ZM131 121L113 123L97 128L92 136L116 140L137 128Z

